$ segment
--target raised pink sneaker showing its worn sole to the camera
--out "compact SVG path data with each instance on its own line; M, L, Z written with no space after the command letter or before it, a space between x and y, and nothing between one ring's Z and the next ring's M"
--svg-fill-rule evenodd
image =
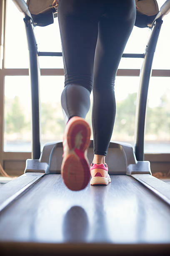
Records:
M89 144L90 126L83 118L72 117L65 127L61 165L62 178L71 190L84 189L90 180Z

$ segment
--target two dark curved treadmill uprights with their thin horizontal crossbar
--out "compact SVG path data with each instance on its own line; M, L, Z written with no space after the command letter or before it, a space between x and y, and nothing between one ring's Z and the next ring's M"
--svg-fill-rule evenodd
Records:
M32 97L32 159L40 158L40 116L39 116L39 64L38 56L62 56L61 52L39 52L37 42L33 32L34 23L30 17L24 18L25 31L28 41L28 50L30 58L30 79L31 79L31 97ZM123 58L143 58L143 66L140 72L140 86L138 90L138 105L136 110L135 122L135 156L138 161L144 160L144 133L145 116L148 98L148 87L150 81L153 56L158 42L158 37L163 20L155 20L153 31L145 49L145 54L123 54Z

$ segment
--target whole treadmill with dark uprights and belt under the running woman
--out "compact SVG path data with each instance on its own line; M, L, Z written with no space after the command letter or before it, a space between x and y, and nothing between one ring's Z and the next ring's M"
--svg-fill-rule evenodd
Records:
M38 1L13 2L25 16L30 54L32 159L26 161L23 175L0 188L0 255L170 255L170 185L152 176L143 154L153 55L170 0L148 24L152 33L145 54L122 56L144 59L135 150L130 144L110 142L107 164L112 182L106 187L89 184L78 192L62 181L62 141L47 143L40 152L38 56L62 53L39 52L33 28L52 23L57 8L50 6L51 0L41 0L37 10ZM93 141L90 162L92 157Z

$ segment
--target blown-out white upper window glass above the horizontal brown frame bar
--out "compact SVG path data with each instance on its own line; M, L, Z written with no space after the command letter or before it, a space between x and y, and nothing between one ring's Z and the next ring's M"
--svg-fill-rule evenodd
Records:
M164 0L158 0L159 6ZM15 22L13 22L15 20ZM169 69L170 45L169 31L170 15L163 18L160 37L153 62L154 69ZM16 25L17 24L17 25ZM55 32L55 33L54 33ZM35 35L39 51L61 51L60 31L57 18L54 24L46 27L36 27ZM137 28L134 26L125 53L143 53L150 35L149 28ZM60 60L55 62L40 59L40 67L43 68L62 68ZM140 68L141 59L125 59L120 62L119 68ZM42 62L42 63L41 63ZM28 47L25 34L23 14L18 11L13 1L7 1L7 23L5 38L5 67L7 68L28 68ZM52 64L53 63L53 64ZM56 66L55 66L56 64Z

